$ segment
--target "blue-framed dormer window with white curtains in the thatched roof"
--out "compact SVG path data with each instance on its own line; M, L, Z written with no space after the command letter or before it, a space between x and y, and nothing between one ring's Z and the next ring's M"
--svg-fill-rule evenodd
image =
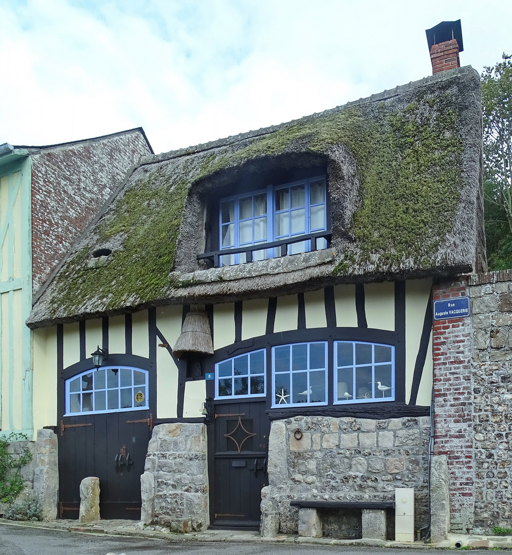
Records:
M307 235L327 229L326 180L324 176L294 181L220 201L220 249L258 245ZM325 249L325 239L317 248ZM310 249L309 241L290 245L290 254ZM254 260L273 258L274 249L255 251ZM224 255L222 266L244 263L245 253Z

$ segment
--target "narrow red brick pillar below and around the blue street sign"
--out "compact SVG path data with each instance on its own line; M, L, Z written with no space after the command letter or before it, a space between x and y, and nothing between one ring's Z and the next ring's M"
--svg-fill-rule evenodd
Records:
M467 294L467 278L434 286L433 300ZM470 318L434 321L434 455L447 455L450 522L467 533L474 520L473 384Z

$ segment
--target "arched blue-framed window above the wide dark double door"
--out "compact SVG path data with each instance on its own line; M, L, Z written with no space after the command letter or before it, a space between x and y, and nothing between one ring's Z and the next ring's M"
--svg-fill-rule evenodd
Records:
M148 371L131 366L102 366L65 382L64 416L144 410L148 404Z

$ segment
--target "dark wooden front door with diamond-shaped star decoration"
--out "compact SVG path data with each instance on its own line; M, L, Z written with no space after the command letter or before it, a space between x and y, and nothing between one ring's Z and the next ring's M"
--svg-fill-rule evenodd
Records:
M265 401L215 405L210 472L212 527L258 529L261 488L268 484L270 421ZM211 436L210 436L211 437Z

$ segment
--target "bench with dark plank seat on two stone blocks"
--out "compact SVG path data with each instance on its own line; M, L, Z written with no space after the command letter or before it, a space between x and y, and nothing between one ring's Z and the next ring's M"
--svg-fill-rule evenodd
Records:
M298 535L322 537L322 509L361 509L362 537L386 539L386 509L394 509L394 502L372 501L291 501L298 507Z

